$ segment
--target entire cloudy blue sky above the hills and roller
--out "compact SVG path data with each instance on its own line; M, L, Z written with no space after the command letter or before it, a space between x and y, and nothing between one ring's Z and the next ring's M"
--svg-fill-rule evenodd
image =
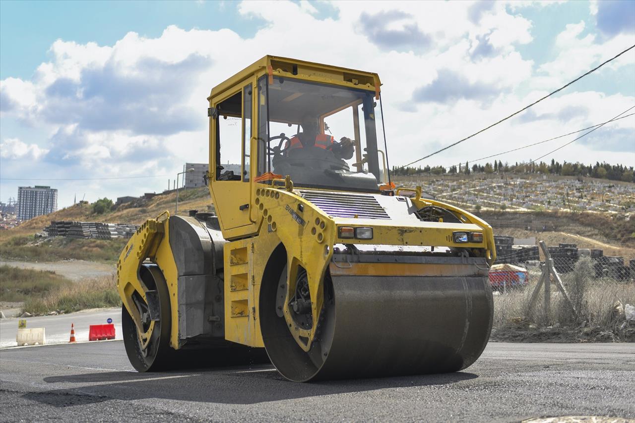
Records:
M377 72L389 160L399 166L634 44L632 0L4 0L0 200L32 185L57 188L59 207L75 196L93 202L165 190L185 162L208 162L211 88L267 54ZM473 162L632 106L635 49L418 164ZM536 159L573 138L497 159ZM543 160L551 159L635 166L635 115Z

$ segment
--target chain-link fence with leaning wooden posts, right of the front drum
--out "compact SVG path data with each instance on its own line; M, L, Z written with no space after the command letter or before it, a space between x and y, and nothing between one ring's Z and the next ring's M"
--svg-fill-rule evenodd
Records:
M635 304L635 260L575 244L513 245L511 237L496 242L490 270L495 328L557 325L618 334L635 327L626 316Z

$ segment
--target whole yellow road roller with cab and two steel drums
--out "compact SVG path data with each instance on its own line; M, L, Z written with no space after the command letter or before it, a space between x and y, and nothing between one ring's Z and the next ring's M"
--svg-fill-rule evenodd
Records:
M395 188L380 85L265 56L211 90L215 212L147 220L117 263L133 367L196 353L305 382L474 363L491 330L491 227Z

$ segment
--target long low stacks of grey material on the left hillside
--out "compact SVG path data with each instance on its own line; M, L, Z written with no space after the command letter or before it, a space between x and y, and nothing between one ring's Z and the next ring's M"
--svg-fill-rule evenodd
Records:
M127 223L51 221L44 232L49 237L112 239L130 238L138 228Z

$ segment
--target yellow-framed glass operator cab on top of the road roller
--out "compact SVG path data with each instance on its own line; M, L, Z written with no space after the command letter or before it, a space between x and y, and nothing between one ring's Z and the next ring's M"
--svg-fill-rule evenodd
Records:
M225 239L258 231L256 192L276 179L368 193L389 184L379 88L377 74L276 56L213 88L208 176Z

